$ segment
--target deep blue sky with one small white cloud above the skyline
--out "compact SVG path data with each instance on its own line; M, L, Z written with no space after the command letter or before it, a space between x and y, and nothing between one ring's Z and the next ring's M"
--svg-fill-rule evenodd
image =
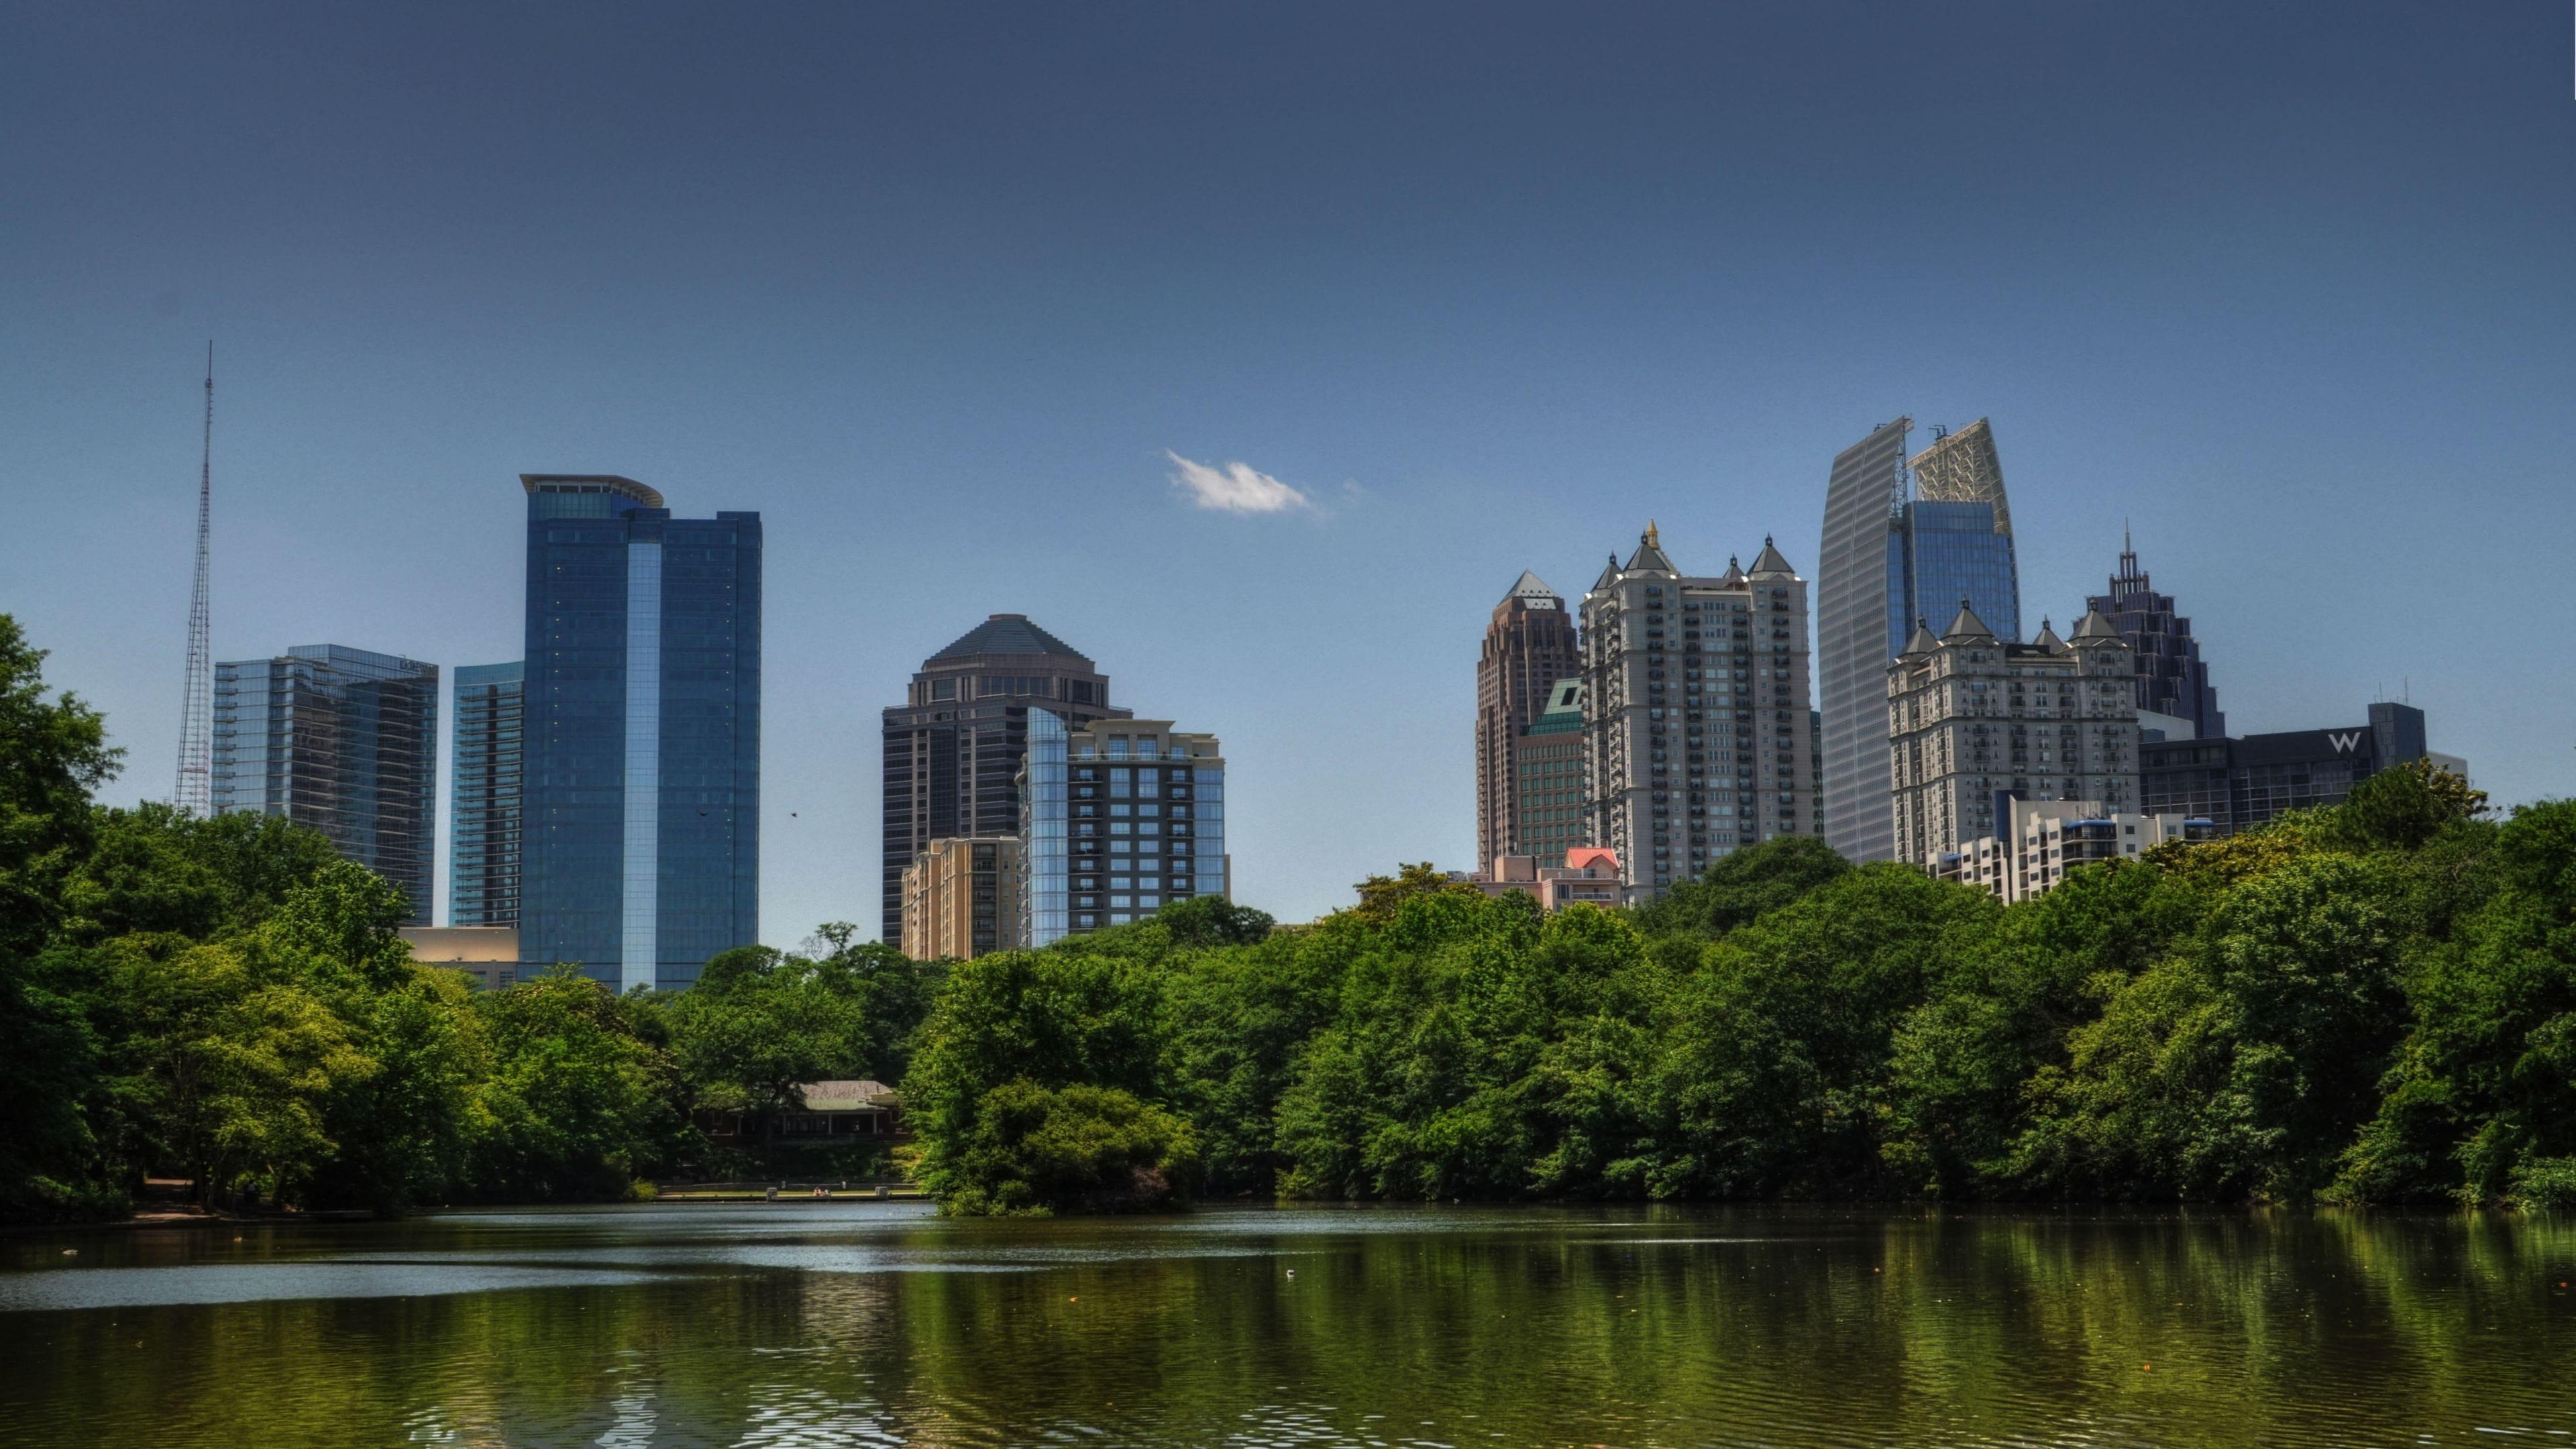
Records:
M2568 23L26 5L0 611L167 797L211 338L216 657L513 660L518 474L629 474L765 518L765 941L873 926L878 712L994 611L1216 732L1303 920L1471 864L1520 570L1811 575L1834 451L1991 418L2025 619L2128 526L2239 732L2563 797Z

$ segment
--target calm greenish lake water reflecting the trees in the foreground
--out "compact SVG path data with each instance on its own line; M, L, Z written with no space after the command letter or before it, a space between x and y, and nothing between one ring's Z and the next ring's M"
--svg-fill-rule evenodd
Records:
M2568 1444L2571 1279L2576 1220L2458 1214L39 1235L0 1238L0 1444Z

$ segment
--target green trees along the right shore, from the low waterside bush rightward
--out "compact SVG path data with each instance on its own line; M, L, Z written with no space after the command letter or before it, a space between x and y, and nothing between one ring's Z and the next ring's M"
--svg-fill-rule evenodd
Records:
M2576 804L2429 768L2004 908L1811 838L1636 913L1427 866L956 967L951 1209L1316 1199L2576 1204Z

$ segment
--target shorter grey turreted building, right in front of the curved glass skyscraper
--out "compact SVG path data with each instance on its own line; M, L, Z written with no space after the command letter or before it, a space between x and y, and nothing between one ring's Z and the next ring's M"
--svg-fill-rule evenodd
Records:
M1942 629L1914 624L1886 670L1893 722L1896 859L1932 866L2002 835L2004 799L2089 799L2136 812L2138 699L2128 642L2087 614L2058 639L1996 639L1965 603Z

